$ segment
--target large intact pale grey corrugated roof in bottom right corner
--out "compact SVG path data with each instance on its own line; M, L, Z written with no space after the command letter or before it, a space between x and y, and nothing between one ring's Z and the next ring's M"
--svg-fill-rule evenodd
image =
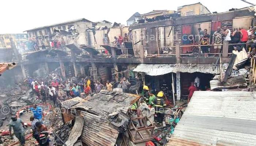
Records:
M196 91L167 146L252 146L256 92Z

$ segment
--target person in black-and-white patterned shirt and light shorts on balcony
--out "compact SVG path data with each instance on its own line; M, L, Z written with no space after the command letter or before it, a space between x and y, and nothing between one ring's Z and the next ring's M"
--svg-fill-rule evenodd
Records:
M217 31L214 32L212 37L212 45L219 45L214 46L214 53L220 53L221 52L221 44L222 44L222 31L221 27L217 27Z

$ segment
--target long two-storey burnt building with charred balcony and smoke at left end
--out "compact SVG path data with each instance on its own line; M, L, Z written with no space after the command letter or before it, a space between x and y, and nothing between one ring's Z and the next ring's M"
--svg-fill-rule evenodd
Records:
M166 20L140 23L130 27L108 28L106 30L86 30L84 44L71 43L67 50L43 50L27 53L18 62L22 64L20 74L38 76L35 71L59 72L63 78L69 76L89 77L103 84L120 81L127 77L135 83L136 76L150 89L168 90L174 100L186 98L188 86L196 77L202 88L210 85L210 80L220 74L219 53L204 57L192 53L188 39L184 36L197 35L197 29L207 29L212 35L217 27L249 28L255 24L255 10L252 7L234 11L173 17ZM125 33L129 41L124 48L111 45L114 36ZM109 42L104 44L106 35ZM211 39L210 39L211 40ZM223 43L222 63L229 63L228 43ZM210 48L211 53L211 48ZM12 70L11 70L12 71ZM18 72L17 72L18 73Z

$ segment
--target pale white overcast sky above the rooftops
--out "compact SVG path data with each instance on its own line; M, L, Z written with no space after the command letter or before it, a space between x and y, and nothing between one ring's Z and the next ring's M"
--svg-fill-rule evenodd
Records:
M256 0L247 0L256 3ZM35 27L79 18L108 20L126 25L135 12L176 10L199 0L1 0L0 34L22 33ZM211 12L250 6L241 0L200 0Z

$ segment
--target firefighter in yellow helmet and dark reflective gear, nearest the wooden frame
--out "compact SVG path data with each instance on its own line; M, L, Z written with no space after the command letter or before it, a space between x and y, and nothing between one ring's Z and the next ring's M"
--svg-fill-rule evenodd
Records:
M163 124L163 118L165 116L165 100L163 99L163 91L158 92L157 98L154 100L155 113L157 114L157 124Z

